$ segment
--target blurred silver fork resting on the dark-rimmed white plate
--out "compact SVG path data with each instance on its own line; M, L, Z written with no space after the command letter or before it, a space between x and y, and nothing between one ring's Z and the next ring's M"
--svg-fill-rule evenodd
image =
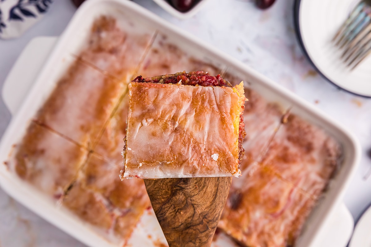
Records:
M341 59L353 70L371 53L371 0L362 0L336 32L332 41Z

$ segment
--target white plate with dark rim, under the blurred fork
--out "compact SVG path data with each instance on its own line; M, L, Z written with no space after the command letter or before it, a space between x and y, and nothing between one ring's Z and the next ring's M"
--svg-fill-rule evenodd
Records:
M305 56L319 74L345 91L371 97L371 56L351 70L342 63L341 51L331 41L357 3L295 0L295 31Z

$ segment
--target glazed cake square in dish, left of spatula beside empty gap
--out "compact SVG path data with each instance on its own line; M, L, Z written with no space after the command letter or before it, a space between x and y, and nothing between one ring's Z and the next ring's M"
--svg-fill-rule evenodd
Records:
M151 204L143 180L121 181L119 171L119 164L91 154L63 204L109 235L127 239Z

